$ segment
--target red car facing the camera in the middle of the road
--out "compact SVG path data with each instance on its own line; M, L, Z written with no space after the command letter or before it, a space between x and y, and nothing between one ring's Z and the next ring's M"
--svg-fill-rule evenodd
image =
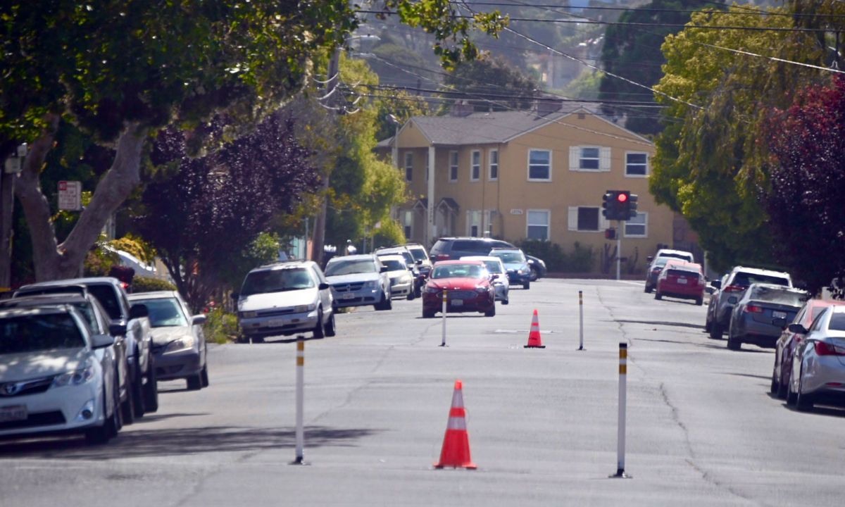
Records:
M434 263L423 290L423 319L443 311L446 291L446 312L480 312L486 317L496 314L496 293L493 276L480 260L444 260Z

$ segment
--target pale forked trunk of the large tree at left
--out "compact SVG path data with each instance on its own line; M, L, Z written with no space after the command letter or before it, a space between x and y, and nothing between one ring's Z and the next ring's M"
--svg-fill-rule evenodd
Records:
M55 128L52 130L55 132ZM109 216L132 193L140 182L141 150L146 140L146 128L130 123L117 140L117 153L112 166L106 171L94 192L90 204L82 211L79 221L62 244L57 244L52 226L50 204L41 193L39 173L46 152L52 145L43 143L43 152L35 156L36 145L46 141L44 136L33 145L15 186L15 195L24 208L26 223L32 235L35 280L48 281L81 275L82 263L89 249L100 236ZM38 159L38 160L36 160Z

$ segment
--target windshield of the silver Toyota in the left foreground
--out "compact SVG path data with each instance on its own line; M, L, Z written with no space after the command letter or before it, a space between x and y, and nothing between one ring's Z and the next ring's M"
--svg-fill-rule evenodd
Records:
M0 354L83 346L85 339L69 313L15 315L0 319Z

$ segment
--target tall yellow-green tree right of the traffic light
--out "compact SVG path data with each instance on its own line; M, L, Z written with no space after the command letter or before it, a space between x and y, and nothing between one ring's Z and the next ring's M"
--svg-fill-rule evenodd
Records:
M732 7L730 12L746 8ZM693 14L692 22L793 26L787 16L722 13ZM799 83L817 73L712 46L815 64L821 63L820 52L812 37L802 33L692 27L668 35L662 46L667 63L655 88L666 95L655 98L668 108L666 128L657 136L657 155L652 159L651 194L690 222L716 270L739 262L770 264L771 235L756 198L757 189L767 185L765 146L759 142L761 124L769 108L782 106Z

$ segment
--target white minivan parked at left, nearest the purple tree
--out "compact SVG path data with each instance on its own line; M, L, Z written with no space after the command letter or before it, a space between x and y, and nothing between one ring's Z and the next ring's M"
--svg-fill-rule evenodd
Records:
M311 331L315 338L335 335L335 297L329 281L310 260L259 266L243 279L237 302L240 342Z

